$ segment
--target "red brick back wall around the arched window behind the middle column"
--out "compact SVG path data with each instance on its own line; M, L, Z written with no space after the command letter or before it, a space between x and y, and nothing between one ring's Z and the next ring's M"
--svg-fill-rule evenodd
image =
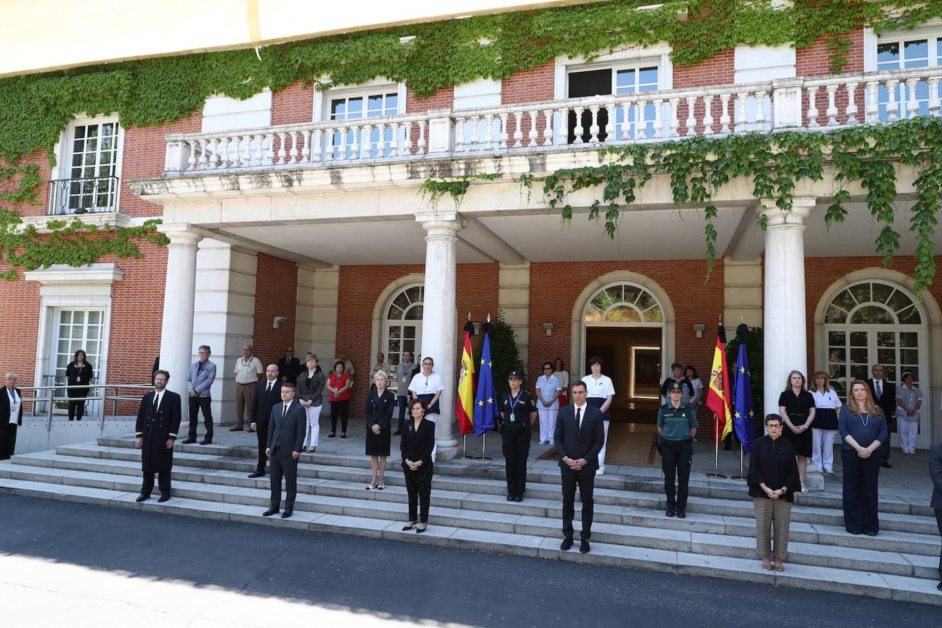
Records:
M497 313L497 264L460 264L457 272L458 337L455 363L461 360L463 327L467 313L476 323ZM421 265L340 266L337 290L337 352L346 351L356 368L356 386L351 397L353 416L360 416L369 392L369 371L376 359L372 352L373 307L390 282L404 275L424 272ZM434 356L433 356L434 357ZM322 358L322 366L333 367L333 359ZM457 372L457 371L456 371ZM451 385L456 385L452 382ZM449 385L446 382L446 385Z

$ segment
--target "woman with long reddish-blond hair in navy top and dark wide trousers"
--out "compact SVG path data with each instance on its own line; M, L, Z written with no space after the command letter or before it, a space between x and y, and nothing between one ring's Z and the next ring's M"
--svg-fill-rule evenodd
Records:
M885 443L888 431L883 411L873 402L866 381L854 379L847 405L837 419L844 463L844 527L851 534L877 536L877 488L882 456L873 452Z

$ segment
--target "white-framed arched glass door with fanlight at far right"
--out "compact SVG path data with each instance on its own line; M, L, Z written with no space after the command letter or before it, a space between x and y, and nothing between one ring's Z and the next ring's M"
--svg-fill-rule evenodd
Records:
M870 377L870 366L883 364L885 378L899 385L911 371L925 400L920 412L918 446L930 443L933 402L930 394L928 317L903 286L885 280L852 282L829 297L823 312L825 369L837 394L847 398L853 379ZM898 444L894 434L891 444Z

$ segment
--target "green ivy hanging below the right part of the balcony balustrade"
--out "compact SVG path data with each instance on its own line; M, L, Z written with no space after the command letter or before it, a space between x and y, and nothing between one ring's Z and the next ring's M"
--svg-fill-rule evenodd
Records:
M725 137L690 137L679 141L635 144L609 148L600 166L557 170L543 180L550 210L559 210L563 221L573 218L566 198L574 191L600 188L601 196L590 206L589 218L604 218L605 233L614 238L623 207L655 174L668 175L675 203L704 206L706 220L707 280L716 260L717 232L713 225L717 208L712 198L734 179L752 181L756 199L775 199L790 211L795 186L820 181L824 167L834 169L836 189L825 212L830 229L847 216L849 183L866 190L870 215L883 225L875 240L877 252L889 264L900 248L894 222L897 200L897 166L917 172L916 199L909 210L909 230L916 234L915 291L932 284L935 274L933 234L942 198L942 118L918 117L892 124L861 125L832 132L782 131L747 133ZM522 182L532 185L532 179ZM601 214L605 208L604 217ZM765 216L759 219L765 229Z

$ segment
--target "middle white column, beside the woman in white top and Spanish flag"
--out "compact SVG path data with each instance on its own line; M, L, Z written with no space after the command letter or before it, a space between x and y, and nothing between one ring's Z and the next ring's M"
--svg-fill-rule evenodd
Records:
M454 435L455 351L457 314L455 305L455 249L461 224L457 214L417 217L425 237L425 298L422 313L422 357L435 361L435 372L445 383L439 398L442 413L435 427L438 459L454 458L458 440Z

